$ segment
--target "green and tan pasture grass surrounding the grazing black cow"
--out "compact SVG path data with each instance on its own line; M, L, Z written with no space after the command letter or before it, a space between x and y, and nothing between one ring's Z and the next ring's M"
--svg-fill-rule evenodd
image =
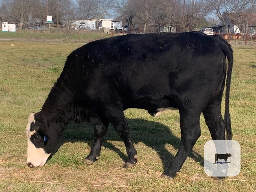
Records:
M93 126L75 123L67 126L46 166L28 168L28 115L40 110L67 56L82 44L0 44L0 191L256 191L256 46L233 46L230 114L233 139L241 145L241 173L215 181L204 173L204 144L211 137L203 118L201 137L180 174L174 180L159 178L179 145L177 111L158 118L144 110L125 111L138 152L134 168L123 169L125 146L112 127L99 161L83 165Z

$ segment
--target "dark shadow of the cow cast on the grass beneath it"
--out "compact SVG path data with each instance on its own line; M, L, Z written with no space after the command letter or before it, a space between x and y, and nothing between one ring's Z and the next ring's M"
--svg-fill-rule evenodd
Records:
M164 171L166 171L176 154L170 153L165 148L165 145L170 144L175 149L178 149L180 138L173 135L169 127L158 122L147 121L144 119L128 119L127 122L131 129L132 142L135 144L142 142L155 150L162 160ZM126 162L128 159L127 154L123 153L119 148L116 148L109 141L122 141L111 125L108 128L108 133L104 137L103 147L115 151L123 161ZM90 123L70 123L63 131L56 151L58 151L61 145L67 142L86 142L92 147L94 143L93 125ZM194 159L201 166L204 166L204 159L200 154L192 150L189 157ZM81 161L82 160L83 159L81 159Z

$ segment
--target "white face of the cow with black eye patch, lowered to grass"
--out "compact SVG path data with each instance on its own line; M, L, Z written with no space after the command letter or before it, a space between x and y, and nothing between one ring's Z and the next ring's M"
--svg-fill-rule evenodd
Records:
M35 113L31 113L28 117L28 126L26 129L28 137L28 158L27 164L29 167L44 166L48 157L51 155L44 150L45 141L43 135L38 131L35 125Z

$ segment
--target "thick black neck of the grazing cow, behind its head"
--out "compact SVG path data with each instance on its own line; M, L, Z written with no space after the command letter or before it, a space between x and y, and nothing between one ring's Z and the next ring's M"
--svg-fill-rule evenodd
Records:
M39 114L48 122L60 122L67 124L73 117L73 93L67 74L61 74L60 78L51 89Z

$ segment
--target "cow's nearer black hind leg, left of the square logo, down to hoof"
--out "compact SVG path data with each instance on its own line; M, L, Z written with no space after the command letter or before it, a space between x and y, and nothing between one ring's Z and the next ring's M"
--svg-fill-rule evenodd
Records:
M201 135L200 113L193 110L179 110L181 141L178 152L169 169L162 175L163 178L174 178L179 172L197 139Z

